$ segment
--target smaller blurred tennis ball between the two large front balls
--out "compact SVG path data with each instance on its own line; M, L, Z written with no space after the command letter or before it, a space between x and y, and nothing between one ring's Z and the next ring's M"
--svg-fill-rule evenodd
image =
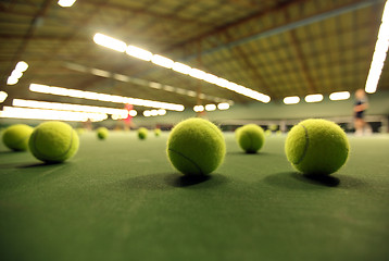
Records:
M246 153L256 153L265 142L265 134L256 124L247 124L240 129L238 144Z

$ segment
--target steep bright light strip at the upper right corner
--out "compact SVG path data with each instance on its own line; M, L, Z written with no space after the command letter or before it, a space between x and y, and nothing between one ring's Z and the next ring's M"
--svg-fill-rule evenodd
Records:
M377 90L378 82L382 72L384 63L389 47L389 1L386 2L382 13L382 23L379 26L376 47L373 54L371 69L368 71L365 91L374 94Z

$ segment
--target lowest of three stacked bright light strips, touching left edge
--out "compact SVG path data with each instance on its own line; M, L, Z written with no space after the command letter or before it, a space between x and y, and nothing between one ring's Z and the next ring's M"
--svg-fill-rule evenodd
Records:
M90 119L92 122L100 122L100 121L104 121L108 117L108 115L104 113L87 113L87 112L4 107L3 111L1 112L1 117L74 121L74 122L86 122L88 121L88 119Z

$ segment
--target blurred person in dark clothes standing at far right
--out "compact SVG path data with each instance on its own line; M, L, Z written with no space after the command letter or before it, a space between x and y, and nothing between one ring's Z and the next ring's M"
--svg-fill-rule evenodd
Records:
M363 89L357 89L355 91L355 103L354 103L354 126L355 135L362 136L364 129L366 133L372 134L372 128L365 121L365 112L368 108L368 100L366 92Z

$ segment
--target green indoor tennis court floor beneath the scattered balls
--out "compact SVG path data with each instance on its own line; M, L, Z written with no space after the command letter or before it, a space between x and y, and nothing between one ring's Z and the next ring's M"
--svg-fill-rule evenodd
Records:
M227 156L209 178L166 159L167 134L80 137L46 165L0 147L1 260L389 260L389 137L350 137L347 165L296 173L285 136Z

